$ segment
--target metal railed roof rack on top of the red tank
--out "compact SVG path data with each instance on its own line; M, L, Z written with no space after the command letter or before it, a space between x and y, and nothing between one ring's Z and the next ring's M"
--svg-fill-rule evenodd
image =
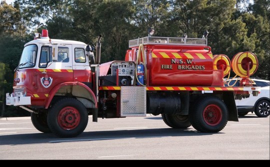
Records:
M129 40L128 46L131 48L139 44L207 46L207 38L146 36Z

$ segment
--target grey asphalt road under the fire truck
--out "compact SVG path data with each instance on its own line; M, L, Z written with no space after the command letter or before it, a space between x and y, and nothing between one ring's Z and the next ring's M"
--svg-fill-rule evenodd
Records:
M218 133L169 128L161 116L89 118L74 138L41 133L29 118L0 121L0 159L269 160L269 145L269 117L254 114L229 121Z

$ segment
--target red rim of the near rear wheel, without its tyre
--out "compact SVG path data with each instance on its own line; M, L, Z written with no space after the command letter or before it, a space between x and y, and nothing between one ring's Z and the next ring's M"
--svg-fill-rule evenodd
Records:
M202 115L204 121L210 126L217 125L222 119L221 109L219 108L219 106L214 104L207 105L204 108Z

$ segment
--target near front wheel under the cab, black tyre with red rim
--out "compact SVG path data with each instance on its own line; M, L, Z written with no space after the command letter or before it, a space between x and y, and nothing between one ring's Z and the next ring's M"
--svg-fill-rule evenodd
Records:
M75 137L88 123L85 106L75 98L63 98L52 105L47 122L50 130L59 137Z

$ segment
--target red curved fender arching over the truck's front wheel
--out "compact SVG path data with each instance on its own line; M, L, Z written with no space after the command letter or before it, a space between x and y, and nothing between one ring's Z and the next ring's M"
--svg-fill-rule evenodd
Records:
M58 89L62 86L66 86L66 85L79 85L79 86L82 86L84 87L86 90L88 90L91 95L93 96L93 99L94 99L94 103L95 103L95 107L97 108L97 100L96 100L96 97L95 97L95 94L93 93L93 91L88 87L86 86L85 84L81 83L81 82L63 82L63 83L60 83L60 84L57 84L56 86L54 86L51 91L49 92L49 95L48 95L48 98L47 100L45 101L45 108L47 109L49 104L50 104L50 101L52 100L54 94L58 91Z

